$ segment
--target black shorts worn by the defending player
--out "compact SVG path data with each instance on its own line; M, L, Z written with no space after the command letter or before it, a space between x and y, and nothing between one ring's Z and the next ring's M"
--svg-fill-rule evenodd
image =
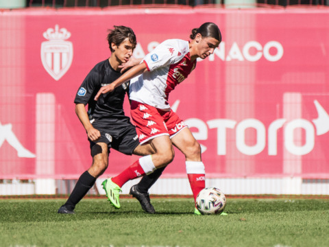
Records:
M108 153L110 148L114 148L123 154L132 155L135 148L139 145L136 128L132 124L123 126L111 126L111 128L101 128L94 126L99 132L101 137L97 141L90 141L90 150L96 143L106 143L108 145Z

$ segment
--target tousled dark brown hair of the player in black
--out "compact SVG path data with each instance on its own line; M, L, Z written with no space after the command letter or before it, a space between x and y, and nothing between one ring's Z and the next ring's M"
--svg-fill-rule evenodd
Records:
M114 29L108 30L109 33L108 37L106 38L108 40L108 46L110 47L110 51L113 51L111 46L112 43L114 43L114 45L119 46L126 38L129 38L129 41L130 43L132 43L133 48L136 47L136 35L130 27L116 25L114 25L113 27Z

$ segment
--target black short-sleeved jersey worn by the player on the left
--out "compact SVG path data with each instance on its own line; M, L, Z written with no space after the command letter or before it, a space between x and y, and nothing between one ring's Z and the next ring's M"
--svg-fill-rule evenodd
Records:
M130 118L123 112L123 100L125 93L129 92L129 82L118 86L110 93L99 96L97 102L94 97L101 89L121 76L119 71L115 71L110 62L104 60L95 65L88 73L84 82L75 96L75 104L88 104L88 116L93 126L121 126L123 123L130 123Z

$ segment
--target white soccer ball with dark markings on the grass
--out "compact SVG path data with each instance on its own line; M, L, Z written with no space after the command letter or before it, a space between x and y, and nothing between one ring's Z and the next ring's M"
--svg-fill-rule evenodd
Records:
M226 206L226 197L220 189L215 187L205 188L197 195L195 205L203 215L221 214Z

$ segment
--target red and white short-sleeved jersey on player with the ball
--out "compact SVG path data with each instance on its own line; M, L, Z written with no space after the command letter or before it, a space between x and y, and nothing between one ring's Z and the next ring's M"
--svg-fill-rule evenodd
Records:
M142 62L146 72L130 81L130 99L169 110L169 93L195 69L188 41L169 39L147 54Z

